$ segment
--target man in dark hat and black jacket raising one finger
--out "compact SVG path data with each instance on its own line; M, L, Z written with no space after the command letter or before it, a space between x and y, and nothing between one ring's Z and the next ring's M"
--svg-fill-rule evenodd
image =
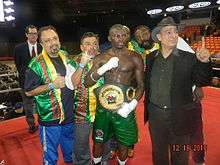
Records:
M202 47L196 55L177 48L178 31L167 17L152 31L160 49L146 59L145 122L149 120L154 165L187 165L190 134L200 123L192 86L211 80L210 53Z

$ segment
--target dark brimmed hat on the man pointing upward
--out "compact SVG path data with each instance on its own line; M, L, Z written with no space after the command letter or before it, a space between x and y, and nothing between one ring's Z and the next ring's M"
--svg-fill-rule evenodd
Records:
M177 26L178 24L176 24L173 20L172 17L166 17L163 18L158 24L157 26L152 30L151 32L151 37L155 42L160 42L157 38L157 34L160 32L160 30L165 27L165 26Z

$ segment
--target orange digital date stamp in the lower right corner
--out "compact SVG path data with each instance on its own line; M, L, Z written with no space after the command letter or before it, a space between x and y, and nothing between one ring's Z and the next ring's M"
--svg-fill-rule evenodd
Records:
M201 152L207 150L206 144L171 144L170 149L172 152Z

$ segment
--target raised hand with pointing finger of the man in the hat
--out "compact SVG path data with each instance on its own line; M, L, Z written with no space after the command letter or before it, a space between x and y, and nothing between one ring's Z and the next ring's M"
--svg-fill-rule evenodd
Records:
M199 61L207 63L209 62L210 52L205 47L205 38L202 37L202 47L197 48L196 57Z

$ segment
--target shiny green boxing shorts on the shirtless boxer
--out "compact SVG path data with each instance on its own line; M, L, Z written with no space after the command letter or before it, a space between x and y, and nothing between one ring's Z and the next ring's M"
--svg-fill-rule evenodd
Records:
M132 146L137 143L138 129L135 112L131 112L127 118L117 113L104 109L99 103L93 127L94 143L105 143L112 136L124 146Z

